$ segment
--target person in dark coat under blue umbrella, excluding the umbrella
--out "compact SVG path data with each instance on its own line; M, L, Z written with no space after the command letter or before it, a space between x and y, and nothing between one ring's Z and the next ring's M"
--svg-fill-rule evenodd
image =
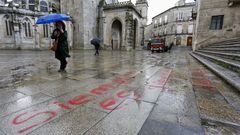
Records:
M67 41L67 31L65 24L59 21L55 24L56 29L54 29L51 38L58 42L57 50L55 51L55 58L60 61L60 69L58 72L66 72L67 67L66 58L69 58L69 48Z

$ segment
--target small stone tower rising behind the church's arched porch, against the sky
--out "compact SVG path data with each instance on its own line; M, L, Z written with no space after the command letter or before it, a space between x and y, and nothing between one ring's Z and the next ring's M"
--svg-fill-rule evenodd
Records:
M143 25L147 25L147 16L148 16L148 2L147 0L137 0L136 8L139 10L140 14L143 17Z

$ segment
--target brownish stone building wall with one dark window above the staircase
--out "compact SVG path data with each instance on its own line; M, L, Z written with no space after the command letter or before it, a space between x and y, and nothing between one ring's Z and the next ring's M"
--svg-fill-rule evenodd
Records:
M197 0L193 50L240 37L239 0Z

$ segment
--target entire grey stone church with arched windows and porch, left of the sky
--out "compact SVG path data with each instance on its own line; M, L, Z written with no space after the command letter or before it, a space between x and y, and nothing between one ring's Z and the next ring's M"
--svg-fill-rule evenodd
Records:
M144 41L148 2L137 0L0 0L0 49L48 49L53 24L35 25L49 13L71 16L65 22L73 49L93 49L100 37L105 49L139 49Z

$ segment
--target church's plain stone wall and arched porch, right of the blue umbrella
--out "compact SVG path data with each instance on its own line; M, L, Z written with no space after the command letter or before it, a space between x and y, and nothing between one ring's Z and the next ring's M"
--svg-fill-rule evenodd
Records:
M137 0L61 1L62 12L73 18L73 47L92 49L90 40L100 37L105 49L141 48L147 23L148 2Z

